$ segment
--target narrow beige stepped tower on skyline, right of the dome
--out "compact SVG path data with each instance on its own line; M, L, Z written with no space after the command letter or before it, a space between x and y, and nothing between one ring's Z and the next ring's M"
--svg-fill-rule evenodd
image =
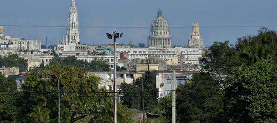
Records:
M203 38L201 38L199 33L199 24L192 24L192 33L190 34L190 38L188 39L189 47L195 48L204 48Z

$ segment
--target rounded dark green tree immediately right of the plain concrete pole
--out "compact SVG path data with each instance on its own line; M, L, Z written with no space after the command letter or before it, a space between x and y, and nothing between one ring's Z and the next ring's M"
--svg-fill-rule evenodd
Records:
M177 121L224 122L223 92L209 73L193 74L188 83L177 87Z

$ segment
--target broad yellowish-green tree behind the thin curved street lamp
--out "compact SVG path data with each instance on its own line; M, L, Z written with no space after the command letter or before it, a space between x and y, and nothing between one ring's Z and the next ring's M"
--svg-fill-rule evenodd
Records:
M24 114L30 114L30 109L38 104L43 104L50 109L50 122L56 122L58 119L58 101L56 76L60 76L61 92L61 121L74 122L88 115L98 113L97 107L101 104L101 96L98 90L99 77L88 75L83 68L57 65L47 66L41 73L28 73L29 78L25 79L22 85L24 90L23 97L19 98L17 107L20 112L17 116L18 122L28 122ZM56 75L56 76L55 76Z

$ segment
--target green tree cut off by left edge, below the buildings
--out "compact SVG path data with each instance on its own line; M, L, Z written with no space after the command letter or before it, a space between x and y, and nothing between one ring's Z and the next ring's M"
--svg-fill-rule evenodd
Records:
M17 98L16 83L12 77L5 77L0 74L0 121L12 122L14 121L17 108L14 106L14 101Z

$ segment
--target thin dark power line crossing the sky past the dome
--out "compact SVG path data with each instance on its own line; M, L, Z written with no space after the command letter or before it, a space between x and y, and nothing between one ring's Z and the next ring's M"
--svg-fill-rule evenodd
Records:
M6 27L58 27L67 28L68 26L49 26L49 25L1 25ZM277 27L277 25L250 25L250 26L199 26L199 28L246 28L246 27ZM151 28L151 27L130 27L130 26L79 26L79 28ZM192 28L191 26L172 26L169 28Z

